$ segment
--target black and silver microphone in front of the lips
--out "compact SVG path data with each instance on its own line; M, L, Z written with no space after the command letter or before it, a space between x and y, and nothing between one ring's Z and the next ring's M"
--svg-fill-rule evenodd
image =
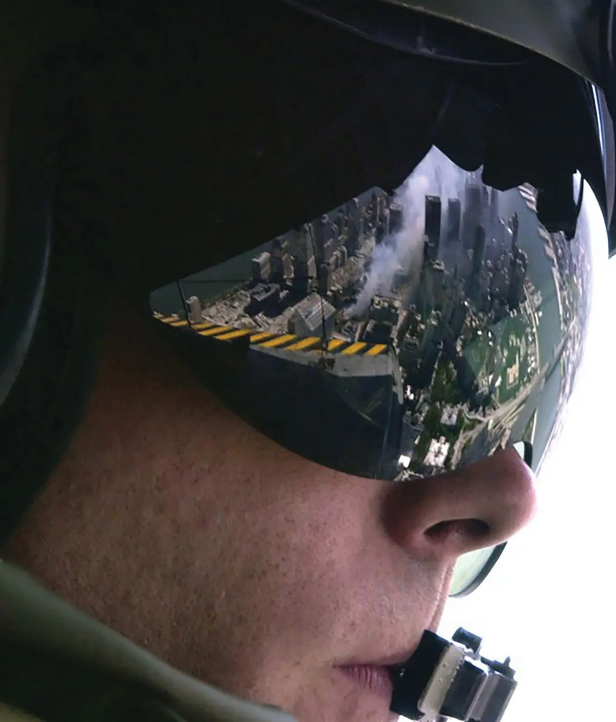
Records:
M417 651L390 669L391 711L421 722L500 722L518 682L509 658L480 656L481 643L462 627L451 641L425 631Z

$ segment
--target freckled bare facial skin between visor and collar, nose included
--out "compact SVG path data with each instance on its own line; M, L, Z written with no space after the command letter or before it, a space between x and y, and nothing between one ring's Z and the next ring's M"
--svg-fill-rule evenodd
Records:
M87 414L3 557L204 682L300 722L388 720L332 666L435 628L456 557L532 516L528 469L511 451L412 484L325 469L110 311Z

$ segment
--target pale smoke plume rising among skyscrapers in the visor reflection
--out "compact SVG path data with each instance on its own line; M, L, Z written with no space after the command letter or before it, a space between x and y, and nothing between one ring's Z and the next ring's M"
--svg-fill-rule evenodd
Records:
M443 204L448 198L463 197L465 175L437 148L431 149L417 165L396 191L395 199L402 204L402 230L375 246L362 290L348 316L364 313L374 295L391 293L394 275L400 269L408 272L417 287L423 257L425 196L441 196Z

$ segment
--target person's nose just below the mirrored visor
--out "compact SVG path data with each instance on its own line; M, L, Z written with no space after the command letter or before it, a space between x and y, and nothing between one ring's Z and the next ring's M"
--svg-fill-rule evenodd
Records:
M492 547L526 525L536 505L535 479L515 449L436 477L391 484L383 523L414 555L455 560Z

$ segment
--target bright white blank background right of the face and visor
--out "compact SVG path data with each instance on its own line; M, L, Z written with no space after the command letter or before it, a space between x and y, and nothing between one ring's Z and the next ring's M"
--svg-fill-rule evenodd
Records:
M519 687L504 722L616 721L616 258L602 262L603 244L597 255L584 365L537 516L475 593L449 600L440 628L511 656Z

